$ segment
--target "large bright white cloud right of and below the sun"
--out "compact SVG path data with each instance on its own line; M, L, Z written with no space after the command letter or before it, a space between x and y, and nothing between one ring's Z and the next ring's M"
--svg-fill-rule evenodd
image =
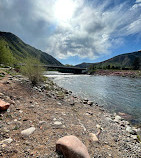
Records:
M51 46L47 52L54 52L59 58L78 55L95 59L110 53L111 47L123 44L124 36L140 31L136 13L131 12L130 7L125 8L125 3L109 10L105 10L106 7L107 3L79 8L69 27L60 25L58 32L50 36Z

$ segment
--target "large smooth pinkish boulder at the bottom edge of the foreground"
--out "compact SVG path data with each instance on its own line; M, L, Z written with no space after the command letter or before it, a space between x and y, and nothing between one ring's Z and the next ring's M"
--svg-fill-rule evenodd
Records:
M90 158L86 146L75 136L65 136L56 142L56 151L64 158Z

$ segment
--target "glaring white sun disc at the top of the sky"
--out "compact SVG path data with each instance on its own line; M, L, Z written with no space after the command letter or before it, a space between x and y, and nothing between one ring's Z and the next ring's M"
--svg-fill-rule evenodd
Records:
M75 3L72 0L57 0L54 14L57 21L66 22L70 20L75 11Z

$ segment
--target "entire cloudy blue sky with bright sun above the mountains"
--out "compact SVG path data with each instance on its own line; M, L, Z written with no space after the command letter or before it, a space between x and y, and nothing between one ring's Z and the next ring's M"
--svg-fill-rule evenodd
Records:
M63 64L141 50L141 0L0 0L0 31Z

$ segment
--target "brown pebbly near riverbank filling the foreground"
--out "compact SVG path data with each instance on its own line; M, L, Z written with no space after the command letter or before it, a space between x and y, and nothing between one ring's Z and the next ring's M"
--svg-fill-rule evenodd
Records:
M91 157L141 157L140 129L50 80L31 87L23 76L7 74L0 87L0 99L11 103L0 113L1 157L58 157L55 143L66 135L77 136ZM21 132L30 127L35 127L34 133L23 137ZM99 127L98 142L90 141L89 134ZM3 143L9 138L9 144Z

